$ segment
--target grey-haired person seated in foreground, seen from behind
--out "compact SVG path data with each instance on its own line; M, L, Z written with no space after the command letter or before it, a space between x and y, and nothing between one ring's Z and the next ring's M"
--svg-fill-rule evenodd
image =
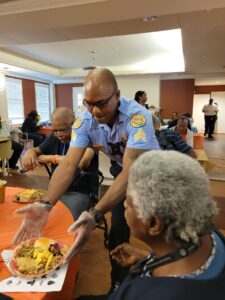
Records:
M122 244L111 252L120 265L136 265L108 299L224 299L225 241L213 230L217 207L196 160L175 151L140 156L125 209L133 235L151 251Z

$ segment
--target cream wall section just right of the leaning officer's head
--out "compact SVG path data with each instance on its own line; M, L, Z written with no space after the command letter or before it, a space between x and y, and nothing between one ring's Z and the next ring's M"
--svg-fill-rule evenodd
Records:
M127 76L116 77L118 87L122 96L134 99L134 95L138 90L147 93L149 105L159 107L160 99L160 78L159 76Z

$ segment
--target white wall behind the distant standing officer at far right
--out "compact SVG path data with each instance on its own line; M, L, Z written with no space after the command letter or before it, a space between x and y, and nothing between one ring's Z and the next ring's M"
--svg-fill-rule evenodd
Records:
M215 124L215 133L225 133L225 92L213 92L211 96L208 94L194 95L193 102L193 119L194 126L197 127L198 132L204 132L204 114L202 108L209 103L209 99L213 98L218 103L219 113L218 120Z

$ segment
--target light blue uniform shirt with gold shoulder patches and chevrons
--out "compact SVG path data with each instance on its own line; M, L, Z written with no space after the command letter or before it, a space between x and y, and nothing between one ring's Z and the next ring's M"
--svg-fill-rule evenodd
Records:
M110 128L85 111L73 125L71 147L92 146L122 164L125 148L159 150L149 111L134 100L120 98L118 118Z

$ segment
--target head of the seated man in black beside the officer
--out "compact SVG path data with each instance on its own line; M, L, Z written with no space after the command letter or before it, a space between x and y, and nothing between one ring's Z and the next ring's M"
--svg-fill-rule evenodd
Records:
M62 143L70 141L74 120L74 113L68 107L58 107L53 111L51 115L53 132Z

